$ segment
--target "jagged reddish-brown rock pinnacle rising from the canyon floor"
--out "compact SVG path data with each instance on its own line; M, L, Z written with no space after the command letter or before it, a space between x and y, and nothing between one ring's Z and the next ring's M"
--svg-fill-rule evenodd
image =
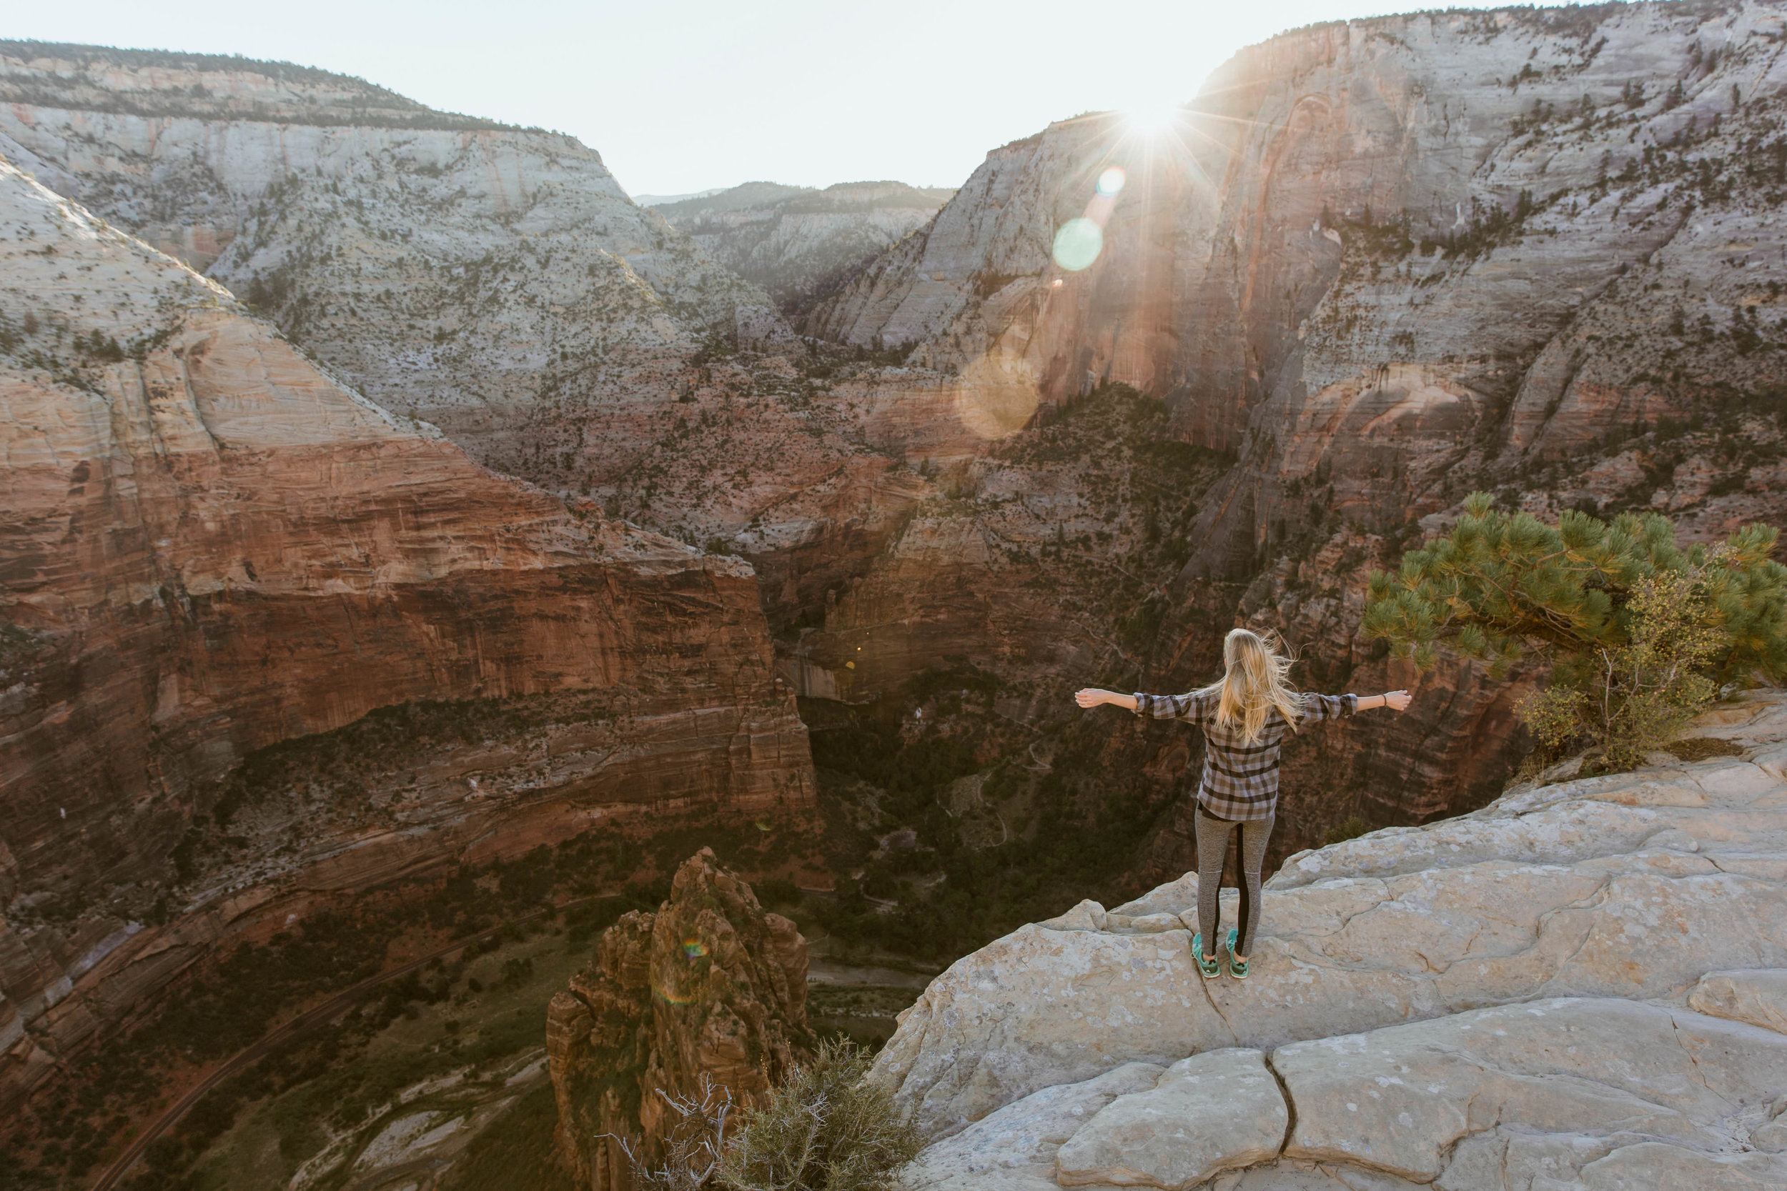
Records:
M806 939L702 848L670 900L609 927L595 961L552 998L559 1155L581 1186L625 1191L618 1139L656 1154L675 1125L663 1095L699 1098L708 1075L733 1104L761 1104L811 1045Z

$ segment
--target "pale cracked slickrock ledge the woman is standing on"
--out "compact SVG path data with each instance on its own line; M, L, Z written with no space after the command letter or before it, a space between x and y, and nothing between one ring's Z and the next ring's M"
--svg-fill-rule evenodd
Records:
M876 1061L908 1184L1782 1186L1787 695L1698 732L1744 755L1292 857L1246 982L1190 962L1196 875L958 961Z

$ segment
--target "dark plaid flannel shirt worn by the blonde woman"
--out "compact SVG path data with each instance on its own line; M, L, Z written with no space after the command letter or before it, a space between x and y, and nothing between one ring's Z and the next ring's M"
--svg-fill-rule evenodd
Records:
M1135 714L1154 720L1185 720L1204 730L1204 773L1197 784L1197 802L1208 814L1224 820L1269 820L1278 812L1278 748L1285 739L1285 718L1278 709L1265 712L1265 727L1256 745L1242 743L1242 727L1217 723L1215 691L1190 695L1142 695L1137 691ZM1358 695L1297 695L1305 720L1338 720L1358 711Z

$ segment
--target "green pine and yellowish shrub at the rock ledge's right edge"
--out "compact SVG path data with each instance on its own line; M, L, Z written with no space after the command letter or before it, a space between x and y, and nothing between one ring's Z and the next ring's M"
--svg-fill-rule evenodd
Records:
M1612 521L1567 511L1556 525L1465 500L1449 534L1372 571L1362 630L1419 670L1440 648L1501 675L1526 648L1551 684L1519 712L1546 746L1599 750L1607 770L1667 746L1721 684L1787 675L1787 568L1778 534L1744 525L1682 548L1660 514Z

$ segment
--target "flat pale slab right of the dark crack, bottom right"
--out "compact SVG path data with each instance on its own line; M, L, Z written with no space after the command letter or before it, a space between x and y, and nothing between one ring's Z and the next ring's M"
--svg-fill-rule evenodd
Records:
M1428 1182L1455 1146L1498 1127L1733 1148L1733 1118L1787 1091L1787 1037L1571 998L1294 1043L1272 1052L1272 1066L1297 1114L1287 1157Z

